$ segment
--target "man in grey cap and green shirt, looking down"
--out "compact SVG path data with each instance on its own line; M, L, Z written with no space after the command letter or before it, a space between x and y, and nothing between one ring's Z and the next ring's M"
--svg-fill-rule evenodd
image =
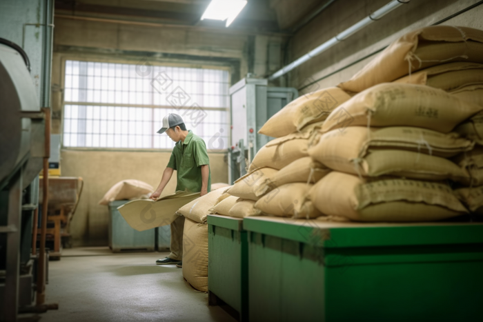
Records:
M205 141L193 134L191 130L186 130L186 125L178 114L170 113L164 117L163 127L158 133L164 132L176 142L176 145L172 149L161 183L150 198L156 200L161 195L174 170L176 170L177 191L199 192L201 196L210 192L210 160ZM184 217L179 216L171 223L171 253L165 259L158 259L156 261L158 265L176 264L177 267L182 267L183 229Z

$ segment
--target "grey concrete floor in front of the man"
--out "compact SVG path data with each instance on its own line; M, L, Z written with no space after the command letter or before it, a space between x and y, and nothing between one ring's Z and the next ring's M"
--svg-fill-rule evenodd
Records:
M175 265L155 265L168 253L112 254L108 248L64 249L50 261L46 303L59 310L41 321L236 321L197 292Z

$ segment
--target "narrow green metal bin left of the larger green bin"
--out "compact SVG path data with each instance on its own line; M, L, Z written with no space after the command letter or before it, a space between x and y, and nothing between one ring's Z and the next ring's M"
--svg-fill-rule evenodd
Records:
M243 219L208 215L208 301L248 321L248 243Z

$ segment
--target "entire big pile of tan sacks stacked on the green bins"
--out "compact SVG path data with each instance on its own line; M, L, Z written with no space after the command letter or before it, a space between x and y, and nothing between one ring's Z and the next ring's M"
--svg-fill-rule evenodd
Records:
M405 34L351 80L268 120L259 133L277 139L214 212L237 216L243 203L239 217L433 221L466 213L452 185L471 185L474 174L451 158L475 143L454 129L483 110L482 68L480 30Z

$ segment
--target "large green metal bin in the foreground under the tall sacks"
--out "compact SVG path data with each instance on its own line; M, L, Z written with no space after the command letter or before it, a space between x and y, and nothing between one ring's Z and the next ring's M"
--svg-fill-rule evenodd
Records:
M483 321L483 223L244 229L250 321Z

